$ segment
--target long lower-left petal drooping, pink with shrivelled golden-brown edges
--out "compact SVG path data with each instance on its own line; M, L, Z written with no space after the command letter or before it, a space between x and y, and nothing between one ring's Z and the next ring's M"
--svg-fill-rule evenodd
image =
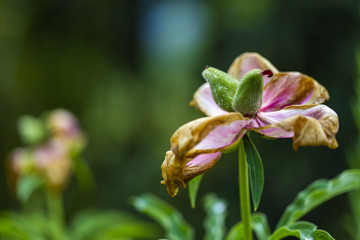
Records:
M175 196L179 186L185 187L192 178L212 168L220 158L220 150L241 137L250 121L240 113L228 113L181 126L171 137L171 150L161 166L162 184L167 185L169 194Z

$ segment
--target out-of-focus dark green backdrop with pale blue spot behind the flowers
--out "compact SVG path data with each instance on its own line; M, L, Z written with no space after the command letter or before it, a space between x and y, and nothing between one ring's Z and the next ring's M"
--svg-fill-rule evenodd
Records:
M0 153L20 146L17 119L63 107L89 136L85 157L96 179L91 193L76 183L66 192L67 217L85 208L135 212L130 196L152 192L179 208L202 236L201 208L187 191L176 198L160 185L160 165L172 133L201 117L189 106L204 82L206 65L224 71L246 51L258 52L280 71L317 79L340 118L339 148L292 149L289 139L253 135L263 158L265 187L259 211L274 224L297 192L347 168L354 147L350 104L359 46L356 0L252 1L0 1ZM239 218L237 156L228 154L203 178L199 191L229 202L228 227ZM0 210L17 209L5 172ZM74 181L73 181L74 182ZM341 196L306 220L347 239Z

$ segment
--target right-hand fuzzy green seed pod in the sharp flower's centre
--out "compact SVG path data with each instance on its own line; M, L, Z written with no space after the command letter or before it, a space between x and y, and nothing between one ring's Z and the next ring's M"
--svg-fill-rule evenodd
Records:
M263 102L264 79L260 69L253 69L242 76L233 98L234 111L252 117L261 108Z

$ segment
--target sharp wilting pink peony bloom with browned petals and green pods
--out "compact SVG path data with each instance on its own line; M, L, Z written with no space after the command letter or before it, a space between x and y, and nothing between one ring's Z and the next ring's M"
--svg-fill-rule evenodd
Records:
M177 194L179 186L185 187L211 169L222 151L247 131L271 138L292 138L295 150L299 146L338 146L338 116L321 104L329 94L313 78L299 72L279 72L257 53L236 58L228 75L210 68L203 76L208 83L195 92L191 105L207 117L176 130L161 166L162 184L167 185L171 196ZM248 81L250 78L255 80Z

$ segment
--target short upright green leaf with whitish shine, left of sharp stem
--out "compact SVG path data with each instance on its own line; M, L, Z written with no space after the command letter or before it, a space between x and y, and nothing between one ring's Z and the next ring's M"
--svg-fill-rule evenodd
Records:
M204 227L205 240L223 239L225 235L225 218L227 215L227 203L219 199L215 194L207 194L204 197L204 209L207 213Z

